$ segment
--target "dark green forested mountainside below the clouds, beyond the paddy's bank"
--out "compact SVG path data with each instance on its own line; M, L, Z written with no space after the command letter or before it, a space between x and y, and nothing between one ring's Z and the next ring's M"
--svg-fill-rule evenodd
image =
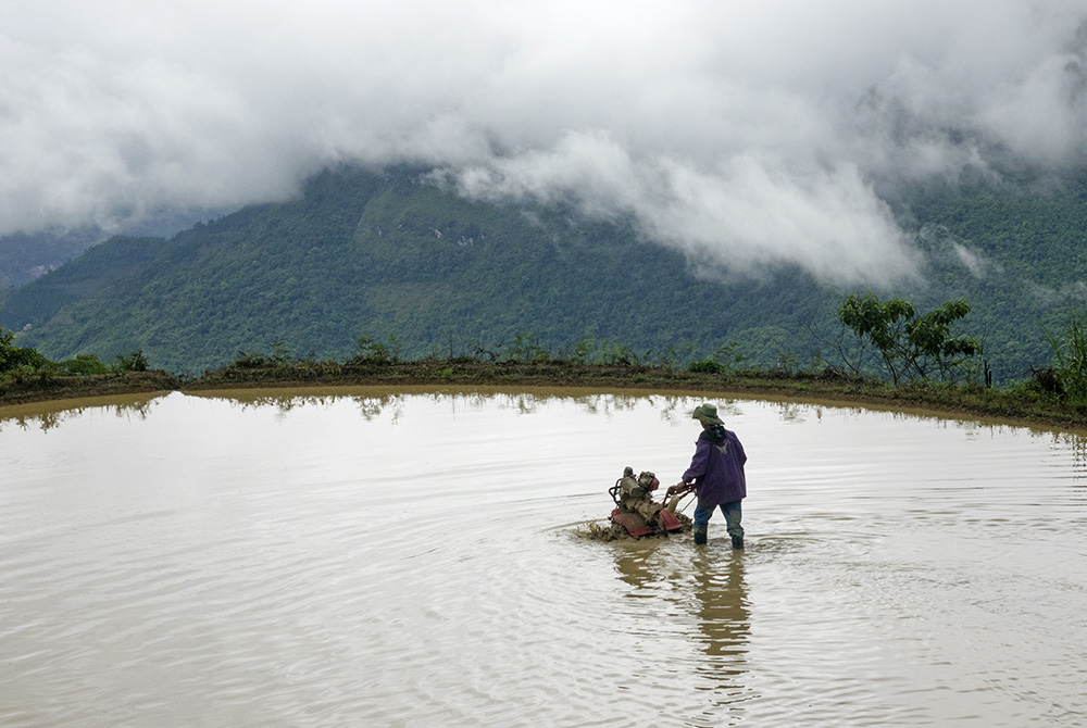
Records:
M966 332L999 377L1048 361L1087 279L1082 189L916 194L924 283L880 296L921 307L965 297ZM697 278L683 255L570 210L470 202L420 171L324 172L299 199L246 208L173 238L114 238L8 291L0 324L52 359L142 349L199 372L274 341L341 357L392 335L408 356L552 352L585 337L657 359L722 344L761 365L833 357L845 293L791 269ZM520 337L520 339L518 339Z

